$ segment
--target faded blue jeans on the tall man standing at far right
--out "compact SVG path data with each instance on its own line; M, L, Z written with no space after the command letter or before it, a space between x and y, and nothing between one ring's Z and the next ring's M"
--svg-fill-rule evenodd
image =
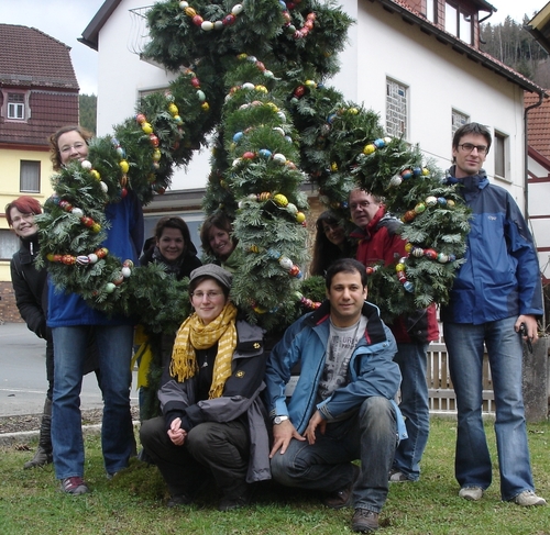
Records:
M481 325L443 324L457 394L457 480L461 487L481 487L484 490L492 481L491 457L482 421L485 342L495 393L501 495L505 501L524 490L535 490L521 392L522 346L520 335L514 331L516 320L507 317Z

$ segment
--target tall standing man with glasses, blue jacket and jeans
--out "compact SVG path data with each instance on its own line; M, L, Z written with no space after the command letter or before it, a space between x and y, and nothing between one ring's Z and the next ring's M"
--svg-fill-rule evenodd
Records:
M521 393L521 326L537 341L542 314L537 254L513 197L488 182L482 165L491 133L479 123L460 127L452 142L454 165L447 182L457 183L473 219L465 263L450 302L441 309L451 379L457 394L455 477L459 495L480 500L492 481L492 462L482 421L484 344L496 406L501 495L518 505L544 505L535 493Z

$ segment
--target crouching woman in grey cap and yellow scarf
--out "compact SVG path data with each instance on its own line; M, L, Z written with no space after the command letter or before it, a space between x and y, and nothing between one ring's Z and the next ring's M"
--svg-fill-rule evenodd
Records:
M271 478L263 332L237 319L232 275L213 264L191 272L195 312L182 324L158 399L163 416L143 422L141 442L166 481L168 506L190 503L212 476L230 511L249 483Z

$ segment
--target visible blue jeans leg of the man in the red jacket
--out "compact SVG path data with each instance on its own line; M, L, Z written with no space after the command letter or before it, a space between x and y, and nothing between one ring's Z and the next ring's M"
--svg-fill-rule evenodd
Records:
M430 432L430 405L426 381L428 345L427 343L397 344L397 354L394 358L403 376L399 409L409 435L407 441L399 443L395 452L394 468L411 481L418 481L420 477L419 462Z

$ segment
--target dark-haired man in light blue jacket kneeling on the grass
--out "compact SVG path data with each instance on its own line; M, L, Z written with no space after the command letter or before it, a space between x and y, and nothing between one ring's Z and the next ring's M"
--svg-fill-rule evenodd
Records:
M353 531L370 533L378 528L395 448L406 437L393 401L402 380L397 347L378 309L365 301L361 263L337 260L326 286L327 301L288 327L267 361L272 477L326 491L329 508L353 505ZM296 365L300 377L287 402Z

